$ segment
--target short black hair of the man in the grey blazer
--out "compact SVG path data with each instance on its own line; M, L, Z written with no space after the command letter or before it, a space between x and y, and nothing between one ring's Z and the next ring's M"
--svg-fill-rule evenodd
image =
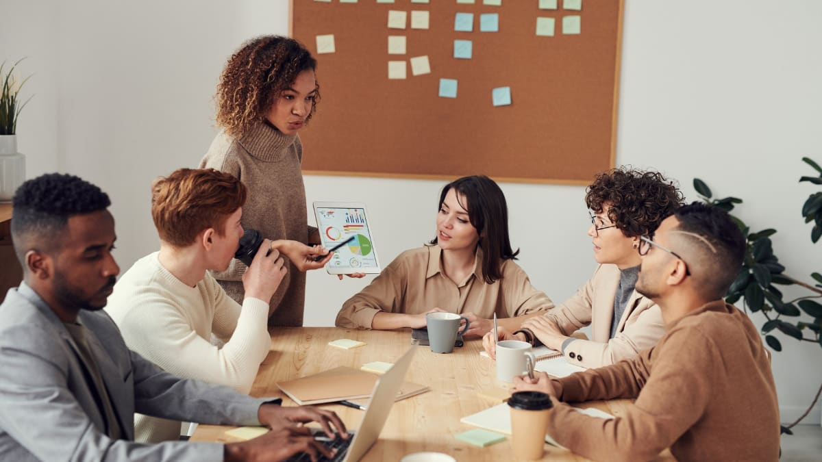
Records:
M73 215L105 210L110 205L108 194L74 175L46 173L24 182L12 199L12 239L17 260L25 268L31 238L43 238L48 245Z

